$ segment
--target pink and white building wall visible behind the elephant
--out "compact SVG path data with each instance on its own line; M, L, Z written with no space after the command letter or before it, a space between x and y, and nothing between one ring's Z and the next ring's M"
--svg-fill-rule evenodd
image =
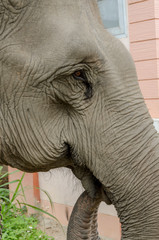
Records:
M126 1L130 41L129 38L122 41L127 48L130 47L140 88L150 114L153 118L159 118L159 0ZM32 174L27 175L24 179L25 184L29 181L30 186L33 186L34 177ZM39 184L50 193L56 217L62 224L67 225L72 206L83 191L80 182L69 170L54 170L39 173ZM35 202L35 195L37 196L32 191L28 200ZM49 201L42 191L40 198L43 208L51 212ZM120 239L120 223L112 206L100 206L99 231L101 235L113 240Z

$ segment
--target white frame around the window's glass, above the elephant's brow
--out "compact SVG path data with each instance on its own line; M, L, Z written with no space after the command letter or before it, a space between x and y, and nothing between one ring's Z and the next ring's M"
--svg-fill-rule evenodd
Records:
M118 0L118 6L119 27L107 28L107 30L117 38L126 38L128 36L126 1Z

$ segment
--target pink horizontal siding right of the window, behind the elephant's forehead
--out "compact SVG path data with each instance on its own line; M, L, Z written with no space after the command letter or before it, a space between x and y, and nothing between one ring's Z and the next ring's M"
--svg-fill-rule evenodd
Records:
M159 118L159 0L128 0L130 51L142 94Z

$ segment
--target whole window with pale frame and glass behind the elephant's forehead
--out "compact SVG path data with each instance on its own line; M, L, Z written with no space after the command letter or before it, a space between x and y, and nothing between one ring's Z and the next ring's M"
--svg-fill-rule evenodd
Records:
M125 0L98 0L105 28L118 38L127 37Z

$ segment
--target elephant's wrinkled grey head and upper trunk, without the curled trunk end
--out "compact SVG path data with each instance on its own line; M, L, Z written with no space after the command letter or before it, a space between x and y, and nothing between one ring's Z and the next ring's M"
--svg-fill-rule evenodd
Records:
M122 239L159 239L158 135L96 0L0 0L0 23L1 162L71 168Z

